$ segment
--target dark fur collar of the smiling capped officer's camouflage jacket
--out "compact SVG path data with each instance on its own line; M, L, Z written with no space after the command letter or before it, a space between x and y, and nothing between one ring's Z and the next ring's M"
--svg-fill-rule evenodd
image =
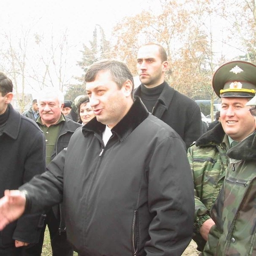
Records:
M215 125L213 129L204 133L197 141L196 146L220 145L225 136L221 123Z

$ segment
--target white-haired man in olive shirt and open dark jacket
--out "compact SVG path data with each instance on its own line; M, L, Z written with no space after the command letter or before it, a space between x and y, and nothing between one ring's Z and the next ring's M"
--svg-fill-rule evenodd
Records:
M68 146L75 130L82 126L62 114L64 95L53 89L44 89L38 94L39 117L37 125L45 135L46 163L49 164L60 151ZM49 229L53 256L73 256L73 246L67 241L65 217L62 205L55 205L47 211L45 226ZM45 228L44 226L44 228ZM44 229L39 243L26 250L25 256L41 255Z

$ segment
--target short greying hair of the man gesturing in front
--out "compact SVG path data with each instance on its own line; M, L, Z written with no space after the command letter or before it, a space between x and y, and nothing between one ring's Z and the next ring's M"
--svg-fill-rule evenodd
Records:
M123 84L130 80L132 82L132 93L134 89L133 76L129 68L122 61L118 60L100 60L94 62L86 71L85 82L93 82L97 75L102 71L109 71L111 78L118 85L119 89L122 88ZM132 96L133 97L133 96Z

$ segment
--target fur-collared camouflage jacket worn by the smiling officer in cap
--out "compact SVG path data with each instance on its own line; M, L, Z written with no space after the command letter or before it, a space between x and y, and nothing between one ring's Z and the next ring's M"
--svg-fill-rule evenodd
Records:
M195 222L194 237L198 250L202 251L205 240L199 234L204 221L210 219L210 210L219 195L228 165L228 138L219 123L203 134L188 149L188 159L194 177Z

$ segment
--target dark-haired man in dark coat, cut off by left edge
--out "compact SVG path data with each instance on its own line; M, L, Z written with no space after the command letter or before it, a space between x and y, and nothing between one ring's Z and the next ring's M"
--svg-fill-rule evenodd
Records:
M45 171L44 134L31 119L11 105L12 81L0 72L0 196L18 189ZM0 255L23 255L23 246L37 243L43 226L41 214L24 215L0 232Z

